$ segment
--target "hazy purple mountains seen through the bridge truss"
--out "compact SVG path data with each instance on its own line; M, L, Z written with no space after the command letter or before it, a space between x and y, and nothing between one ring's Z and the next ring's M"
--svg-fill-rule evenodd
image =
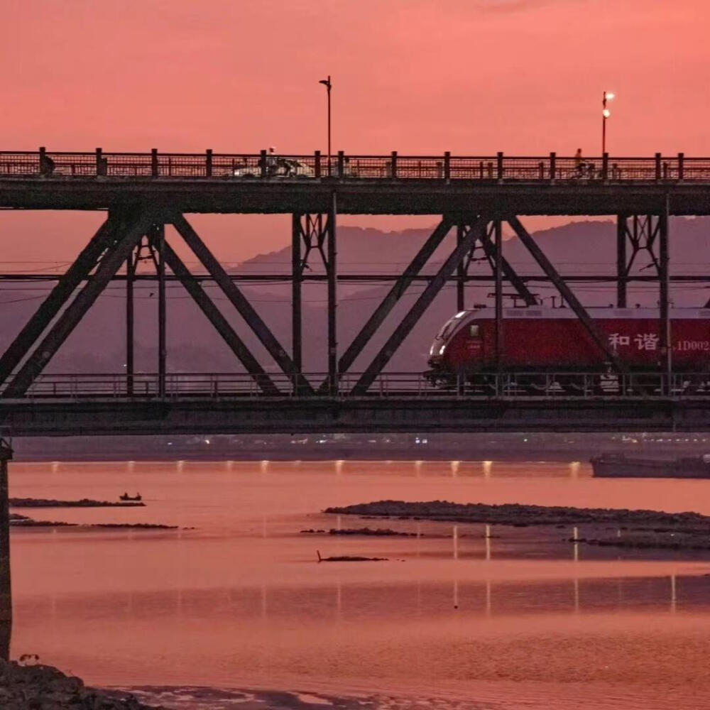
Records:
M523 219L523 223L524 223ZM423 244L430 230L408 229L402 232L382 232L376 229L342 227L338 233L339 271L345 273L400 273L417 249ZM710 235L710 219L672 219L670 257L672 273L705 274L707 264L707 241ZM535 234L537 243L563 274L608 274L616 270L616 226L612 222L574 222L555 229ZM454 246L454 235L447 236L442 247L435 253L425 273L434 273L447 253ZM516 237L507 239L503 246L504 256L521 275L539 274L540 269L525 246ZM317 255L314 255L317 256ZM490 273L490 268L480 253L475 255L470 273ZM637 268L648 263L641 253ZM318 273L317 259L311 268ZM235 273L287 274L290 270L290 248L257 256L244 262ZM635 271L652 273L652 270ZM41 302L40 290L12 290L18 285L7 283L0 292L0 348L5 349ZM241 284L254 307L271 327L276 337L290 350L290 285L268 283ZM339 285L339 345L345 347L368 316L388 292L389 284L358 283ZM423 283L414 283L384 324L383 331L365 349L354 364L353 370L361 370L385 342L386 337L404 317L425 288ZM606 305L613 302L616 287L612 284L584 283L572 286L586 305ZM556 295L550 284L531 283L530 289L549 302ZM253 349L265 366L273 369L273 363L253 337L246 324L234 313L229 302L217 288L207 287L214 295L224 315L237 332ZM512 288L506 285L506 293ZM492 302L488 297L493 291L492 283L466 287L466 305ZM391 371L420 371L425 368L427 351L437 329L456 309L454 284L442 289L409 337L394 354L388 369ZM657 285L643 284L629 289L629 302L654 305L657 300ZM238 372L241 365L222 342L211 324L202 315L192 299L179 284L171 284L168 300L168 367L173 372ZM676 305L704 305L710 290L707 285L682 284L672 288ZM303 288L304 322L304 368L323 371L326 367L326 310L325 285L305 284ZM155 285L141 283L136 298L136 364L137 368L153 372L157 368L157 311L158 301ZM64 346L58 351L48 367L48 372L104 372L124 371L125 349L125 300L124 285L114 283L99 298L87 317L79 324Z

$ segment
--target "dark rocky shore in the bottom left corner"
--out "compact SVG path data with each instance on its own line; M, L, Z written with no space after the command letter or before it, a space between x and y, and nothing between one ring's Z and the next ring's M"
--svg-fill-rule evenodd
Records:
M45 665L0 660L2 710L156 710L130 694L87 688L82 679Z

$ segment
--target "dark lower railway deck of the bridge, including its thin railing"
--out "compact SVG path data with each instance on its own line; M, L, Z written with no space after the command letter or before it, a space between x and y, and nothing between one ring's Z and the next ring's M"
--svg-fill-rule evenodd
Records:
M324 376L307 375L313 385ZM352 376L356 378L356 375ZM710 373L670 378L577 376L576 393L550 374L535 388L524 374L498 376L493 389L459 383L435 388L422 376L388 373L365 395L347 381L337 394L300 395L276 378L262 393L244 374L40 376L23 398L0 398L6 436L307 433L697 431L710 425ZM529 377L529 376L528 376ZM568 378L569 373L565 373Z

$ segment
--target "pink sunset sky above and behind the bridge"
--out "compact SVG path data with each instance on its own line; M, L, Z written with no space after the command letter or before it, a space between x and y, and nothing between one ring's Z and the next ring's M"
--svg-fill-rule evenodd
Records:
M2 15L3 150L324 150L330 74L334 150L598 153L612 89L611 153L710 155L706 0L5 0ZM95 222L3 215L5 259L72 258ZM289 239L288 219L198 226L230 261Z

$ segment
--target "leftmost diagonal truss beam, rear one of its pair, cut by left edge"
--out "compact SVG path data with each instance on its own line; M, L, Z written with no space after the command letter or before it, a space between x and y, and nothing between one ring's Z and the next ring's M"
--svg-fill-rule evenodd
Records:
M0 384L4 383L14 368L21 363L38 337L43 334L45 328L62 310L72 293L97 265L99 257L111 244L113 231L113 226L107 219L2 354L0 357Z

